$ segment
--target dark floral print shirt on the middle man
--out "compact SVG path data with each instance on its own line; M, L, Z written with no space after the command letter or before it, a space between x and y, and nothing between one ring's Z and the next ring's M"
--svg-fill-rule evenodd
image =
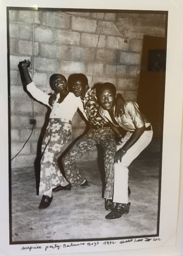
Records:
M84 97L81 97L84 113L90 125L104 125L106 122L99 114L99 104L97 102L96 89L88 89Z

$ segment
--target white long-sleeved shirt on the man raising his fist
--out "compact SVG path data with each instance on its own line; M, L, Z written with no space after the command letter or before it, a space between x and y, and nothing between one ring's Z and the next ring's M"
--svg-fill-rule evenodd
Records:
M27 90L35 99L51 108L49 118L60 118L63 122L69 122L72 121L75 112L79 108L81 113L83 113L84 117L87 119L87 116L84 113L83 103L80 97L76 97L74 93L67 94L61 103L58 103L58 99L60 98L60 94L58 93L57 98L51 107L49 105L49 95L37 88L34 82L27 85Z

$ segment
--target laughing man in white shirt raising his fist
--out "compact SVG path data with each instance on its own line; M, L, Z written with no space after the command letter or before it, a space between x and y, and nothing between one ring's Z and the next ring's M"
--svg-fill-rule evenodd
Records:
M39 195L43 195L39 209L49 207L52 202L52 189L70 190L71 186L61 174L58 167L57 158L61 148L67 143L71 135L71 121L74 113L79 108L87 119L80 97L76 97L67 90L67 80L61 74L53 74L50 77L50 84L55 91L54 103L49 103L49 95L38 89L32 81L28 67L30 61L19 63L20 71L23 73L23 81L26 89L39 102L51 108L49 124L44 134L42 142L41 172ZM55 190L57 191L57 190Z

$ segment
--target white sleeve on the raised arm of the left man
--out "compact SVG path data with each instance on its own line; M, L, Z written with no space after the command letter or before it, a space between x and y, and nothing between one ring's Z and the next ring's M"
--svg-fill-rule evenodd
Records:
M49 102L48 102L49 95L47 95L46 93L44 93L40 89L38 89L35 86L34 82L31 82L30 84L27 84L27 90L32 95L32 97L34 97L39 102L42 102L43 104L50 107Z

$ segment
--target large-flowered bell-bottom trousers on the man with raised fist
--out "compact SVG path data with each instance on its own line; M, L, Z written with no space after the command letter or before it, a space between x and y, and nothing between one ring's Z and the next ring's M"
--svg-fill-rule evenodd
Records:
M58 167L57 158L71 135L71 128L71 122L62 122L59 118L49 119L42 143L39 195L67 182Z

